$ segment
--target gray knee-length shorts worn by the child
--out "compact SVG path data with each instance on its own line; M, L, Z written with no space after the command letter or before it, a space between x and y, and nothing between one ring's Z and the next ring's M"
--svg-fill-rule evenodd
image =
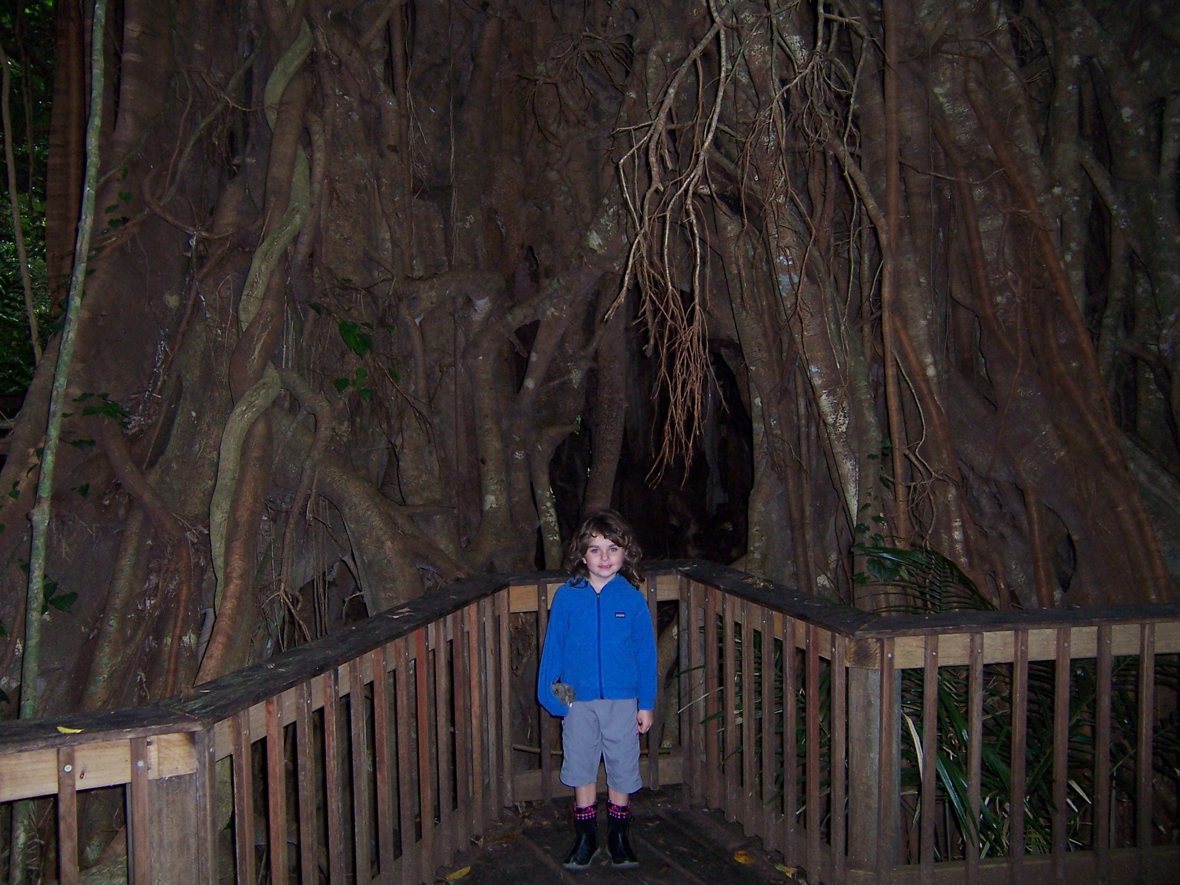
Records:
M582 787L598 781L598 760L607 759L607 786L634 793L640 778L638 701L575 701L562 721L562 784Z

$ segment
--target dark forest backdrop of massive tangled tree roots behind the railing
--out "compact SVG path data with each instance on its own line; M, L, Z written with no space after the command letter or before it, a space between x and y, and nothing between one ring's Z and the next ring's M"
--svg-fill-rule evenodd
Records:
M0 13L45 354L6 210L13 701L90 17ZM558 568L608 505L850 605L894 549L988 605L1173 598L1175 4L112 0L106 37L39 709Z

